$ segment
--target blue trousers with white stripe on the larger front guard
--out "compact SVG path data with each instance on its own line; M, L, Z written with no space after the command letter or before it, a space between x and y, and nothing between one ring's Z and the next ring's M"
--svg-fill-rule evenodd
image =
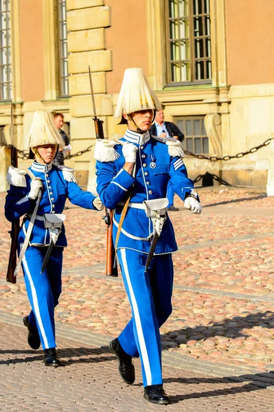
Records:
M133 318L119 343L130 356L140 356L144 387L163 383L159 328L172 312L173 264L171 253L157 255L145 272L144 253L118 249L119 263Z

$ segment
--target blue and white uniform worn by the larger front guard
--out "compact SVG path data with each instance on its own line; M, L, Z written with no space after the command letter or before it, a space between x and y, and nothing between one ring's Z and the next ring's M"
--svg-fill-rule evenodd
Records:
M152 221L146 216L144 201L165 198L168 182L184 201L194 191L187 178L183 151L175 139L161 139L127 130L120 141L137 146L135 177L124 170L122 146L113 146L113 161L108 161L110 148L98 142L95 157L97 191L102 203L115 209L113 241L121 218L124 200L131 190L130 203L117 243L126 292L133 319L119 335L123 350L140 356L144 387L162 383L161 342L159 327L172 312L173 264L171 253L177 250L174 229L167 216L148 272L146 258L153 233ZM102 146L102 147L101 147ZM106 155L104 156L104 150ZM98 154L97 154L98 152Z

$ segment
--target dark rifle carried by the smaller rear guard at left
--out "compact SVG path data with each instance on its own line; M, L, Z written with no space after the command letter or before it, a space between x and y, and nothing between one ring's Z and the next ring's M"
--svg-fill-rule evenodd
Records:
M13 104L11 104L11 129L10 129L10 160L11 164L14 168L18 167L18 157L17 157L17 150L16 147L13 145ZM10 258L8 260L8 271L6 281L12 284L16 284L16 276L14 276L14 270L16 268L16 260L17 260L17 247L18 247L18 236L20 230L20 220L16 219L12 222L12 229L9 231L10 237L12 238L12 242L10 245Z

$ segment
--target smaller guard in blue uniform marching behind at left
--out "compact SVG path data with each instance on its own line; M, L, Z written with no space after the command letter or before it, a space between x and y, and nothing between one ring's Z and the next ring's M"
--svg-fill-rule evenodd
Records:
M10 222L21 218L19 263L22 262L27 296L32 310L23 319L28 329L27 340L32 349L42 343L44 362L58 367L54 308L61 293L62 253L67 246L62 211L65 201L86 209L101 210L102 202L76 183L73 169L52 164L63 141L54 126L52 115L36 111L28 137L28 148L35 160L28 170L10 167L10 190L5 198L5 217ZM52 252L45 256L52 244ZM42 271L43 263L46 264ZM41 273L42 272L42 273Z

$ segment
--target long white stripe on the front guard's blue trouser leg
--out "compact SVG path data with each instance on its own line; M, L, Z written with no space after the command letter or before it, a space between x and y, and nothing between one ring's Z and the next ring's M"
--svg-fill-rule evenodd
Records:
M135 324L136 324L136 329L137 329L137 335L139 339L139 345L140 345L140 350L141 350L141 358L143 359L144 363L144 371L146 374L146 381L148 386L152 385L152 377L151 377L151 370L150 370L150 363L148 360L148 351L146 350L146 343L144 339L144 333L143 329L141 328L141 319L139 315L139 309L137 306L137 301L135 299L135 295L133 292L133 286L131 285L130 282L130 277L128 273L128 264L126 262L126 249L120 249L121 250L121 257L122 257L122 264L124 266L124 274L126 276L126 282L128 282L128 290L130 294L130 300L131 304L133 306L133 314L134 314L134 319L135 319Z

